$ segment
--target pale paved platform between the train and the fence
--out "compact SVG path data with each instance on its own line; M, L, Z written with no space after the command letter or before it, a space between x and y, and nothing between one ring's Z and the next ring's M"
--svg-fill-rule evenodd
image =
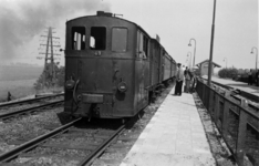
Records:
M121 166L215 166L191 94L173 89Z

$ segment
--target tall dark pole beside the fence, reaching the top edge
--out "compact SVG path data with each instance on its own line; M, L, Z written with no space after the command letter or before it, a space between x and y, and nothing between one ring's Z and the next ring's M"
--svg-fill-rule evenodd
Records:
M214 0L214 15L213 15L213 25L211 25L211 38L210 38L210 53L209 53L209 69L208 69L208 86L211 82L211 68L213 68L213 54L214 54L214 29L215 29L215 13L216 13L216 0Z

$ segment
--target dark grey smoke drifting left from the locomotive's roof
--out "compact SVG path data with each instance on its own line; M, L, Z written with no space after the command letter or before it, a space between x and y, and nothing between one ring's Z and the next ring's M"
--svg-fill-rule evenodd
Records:
M15 59L19 48L48 27L72 19L75 13L110 11L101 0L0 0L0 58ZM77 15L82 17L82 15ZM65 24L65 22L63 22Z

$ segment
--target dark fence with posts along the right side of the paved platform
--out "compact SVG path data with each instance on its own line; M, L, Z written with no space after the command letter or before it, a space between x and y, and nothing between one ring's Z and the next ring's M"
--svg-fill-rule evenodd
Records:
M259 114L248 110L246 100L237 103L230 91L221 92L203 80L197 81L196 91L238 165L245 166L245 156L259 165Z

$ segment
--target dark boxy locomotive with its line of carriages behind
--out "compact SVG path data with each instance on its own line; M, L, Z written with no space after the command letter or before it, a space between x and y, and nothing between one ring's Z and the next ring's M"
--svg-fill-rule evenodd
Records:
M174 59L134 22L104 11L66 22L65 113L134 116L175 74Z

